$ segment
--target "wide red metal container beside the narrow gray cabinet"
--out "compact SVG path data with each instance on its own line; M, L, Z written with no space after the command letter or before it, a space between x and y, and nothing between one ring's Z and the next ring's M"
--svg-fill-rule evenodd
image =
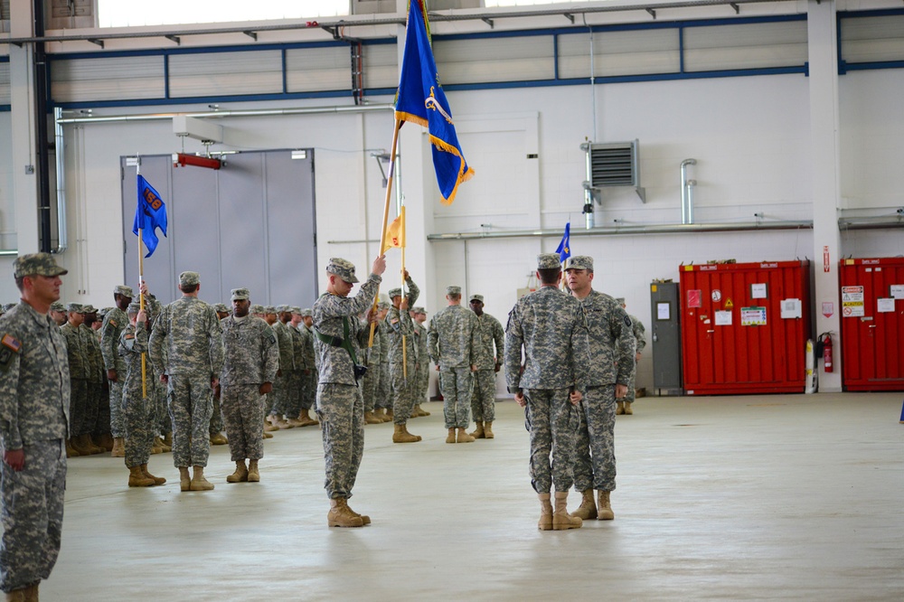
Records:
M804 392L809 261L680 269L686 394Z

